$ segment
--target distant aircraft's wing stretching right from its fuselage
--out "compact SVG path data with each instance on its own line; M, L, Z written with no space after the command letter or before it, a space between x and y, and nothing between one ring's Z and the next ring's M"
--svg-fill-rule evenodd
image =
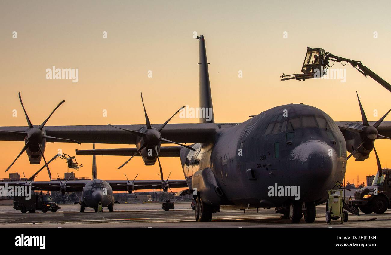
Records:
M107 181L113 191L126 191L126 183L125 180L120 181ZM170 182L170 188L187 188L186 180L169 180ZM120 185L118 185L120 184ZM134 181L135 190L141 190L141 189L160 189L161 181L160 180L138 180Z

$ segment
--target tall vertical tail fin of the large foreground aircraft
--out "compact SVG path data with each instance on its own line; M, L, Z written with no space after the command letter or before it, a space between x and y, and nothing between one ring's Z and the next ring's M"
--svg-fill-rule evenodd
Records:
M206 59L206 47L204 36L197 36L199 40L199 107L200 123L215 123L213 115L212 94L210 92L208 60Z

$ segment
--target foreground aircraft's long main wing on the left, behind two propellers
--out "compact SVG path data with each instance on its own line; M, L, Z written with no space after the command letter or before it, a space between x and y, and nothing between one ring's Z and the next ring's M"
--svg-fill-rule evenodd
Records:
M215 135L216 130L223 127L234 126L236 123L216 124L216 123L190 123L190 124L167 124L161 130L161 136L179 143L199 143L206 142ZM138 131L145 125L116 125L125 129ZM160 127L160 124L152 125ZM0 131L25 132L28 127L0 127ZM79 141L81 143L96 144L135 144L136 135L127 131L111 127L109 125L91 126L45 126L46 135L57 138L66 138ZM0 132L0 141L23 141L24 137ZM57 142L47 138L47 142ZM64 141L65 142L65 141Z

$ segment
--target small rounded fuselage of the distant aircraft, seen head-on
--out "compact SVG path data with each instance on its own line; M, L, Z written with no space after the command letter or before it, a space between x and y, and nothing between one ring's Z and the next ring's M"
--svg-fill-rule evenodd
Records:
M114 205L113 189L104 180L94 179L86 183L83 188L80 202L86 207L97 208L99 203L102 207Z

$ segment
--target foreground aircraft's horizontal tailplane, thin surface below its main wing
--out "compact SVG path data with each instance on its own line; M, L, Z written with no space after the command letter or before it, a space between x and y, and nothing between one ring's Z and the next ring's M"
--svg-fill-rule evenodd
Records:
M179 157L182 146L164 146L160 147L160 157ZM120 149L95 149L95 150L77 150L77 155L99 155L99 156L133 156L137 148ZM135 156L141 156L137 153Z

